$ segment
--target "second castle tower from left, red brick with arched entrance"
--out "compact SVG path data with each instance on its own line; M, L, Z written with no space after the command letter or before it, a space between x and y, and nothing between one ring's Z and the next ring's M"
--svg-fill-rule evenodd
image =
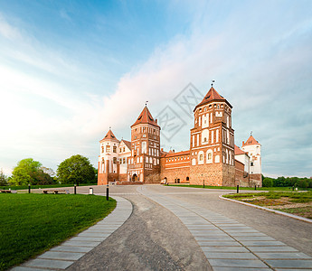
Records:
M159 182L160 126L147 106L131 126L131 156L128 158L128 180Z

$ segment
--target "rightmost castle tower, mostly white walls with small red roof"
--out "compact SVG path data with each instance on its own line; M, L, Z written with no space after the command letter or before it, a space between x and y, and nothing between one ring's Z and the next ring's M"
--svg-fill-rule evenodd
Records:
M251 135L246 142L242 142L241 150L248 153L250 158L250 185L262 186L261 145Z

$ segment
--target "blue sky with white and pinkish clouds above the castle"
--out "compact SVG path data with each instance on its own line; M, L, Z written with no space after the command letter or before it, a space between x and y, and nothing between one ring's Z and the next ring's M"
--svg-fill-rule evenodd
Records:
M264 175L310 177L311 44L310 0L0 1L0 169L97 166L99 140L129 140L147 101L162 147L187 150L215 80Z

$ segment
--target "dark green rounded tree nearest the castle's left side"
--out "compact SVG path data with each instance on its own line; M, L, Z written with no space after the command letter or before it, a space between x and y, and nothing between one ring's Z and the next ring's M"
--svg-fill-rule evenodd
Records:
M61 162L56 173L61 183L79 184L96 182L94 171L87 157L76 154Z

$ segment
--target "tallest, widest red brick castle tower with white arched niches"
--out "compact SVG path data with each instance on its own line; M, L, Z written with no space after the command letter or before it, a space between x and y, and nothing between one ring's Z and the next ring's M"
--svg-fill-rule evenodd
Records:
M235 185L232 105L213 87L194 108L190 183Z

